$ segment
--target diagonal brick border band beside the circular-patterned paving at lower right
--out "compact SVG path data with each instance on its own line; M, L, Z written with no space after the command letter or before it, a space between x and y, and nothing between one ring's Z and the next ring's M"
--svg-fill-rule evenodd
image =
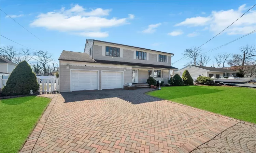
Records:
M212 140L220 133L224 132L228 128L231 128L232 126L236 125L238 122L230 120L222 125L217 126L216 128L212 129L211 131L201 135L200 137L197 137L184 145L180 146L179 148L174 149L170 153L190 153L191 151L195 150L202 144Z

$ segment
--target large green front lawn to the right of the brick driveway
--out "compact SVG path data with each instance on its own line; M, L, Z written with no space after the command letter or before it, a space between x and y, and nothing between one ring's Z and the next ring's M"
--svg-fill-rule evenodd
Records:
M256 89L218 86L162 87L148 95L256 123Z

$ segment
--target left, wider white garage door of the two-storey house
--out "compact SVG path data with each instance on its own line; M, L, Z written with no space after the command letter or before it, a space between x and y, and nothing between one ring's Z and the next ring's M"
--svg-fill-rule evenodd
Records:
M98 71L72 70L72 91L98 89Z

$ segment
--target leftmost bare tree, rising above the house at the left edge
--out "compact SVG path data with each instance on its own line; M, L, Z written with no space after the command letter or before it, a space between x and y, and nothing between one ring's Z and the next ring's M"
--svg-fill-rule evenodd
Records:
M12 61L17 54L17 50L13 46L0 47L0 57L6 60Z

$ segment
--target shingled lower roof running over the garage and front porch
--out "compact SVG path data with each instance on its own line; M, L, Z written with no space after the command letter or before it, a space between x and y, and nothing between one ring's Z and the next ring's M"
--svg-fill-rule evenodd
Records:
M129 65L129 66L143 66L143 67L156 67L156 68L168 68L177 69L172 66L165 65L153 65L153 64L142 64L142 63L130 63L130 62L117 62L117 61L105 61L105 60L94 60L86 53L72 52L63 50L58 60L72 61L72 62L88 62L88 63L101 63L101 64L113 64L113 65Z

